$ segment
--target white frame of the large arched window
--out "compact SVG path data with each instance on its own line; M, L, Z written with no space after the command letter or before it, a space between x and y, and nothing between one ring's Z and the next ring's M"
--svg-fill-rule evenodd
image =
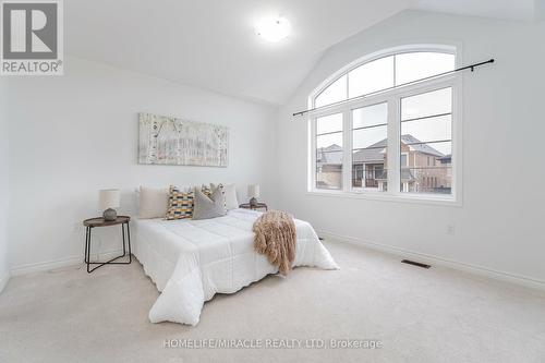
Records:
M310 109L314 106L314 98L322 94L329 84L347 74L351 70L374 61L379 58L403 53L403 52L444 52L455 56L455 66L460 63L461 52L459 47L453 46L402 46L390 48L388 50L372 53L363 57L343 69L336 72L332 76L322 83L315 92L308 97ZM347 82L347 84L349 81ZM427 92L433 92L446 87L452 88L452 108L451 108L451 147L452 147L452 162L451 162L451 194L424 194L424 193L407 193L402 192L400 184L400 131L401 131L401 99ZM308 174L307 174L307 193L313 195L324 196L340 196L350 198L364 198L376 201L389 202L403 202L403 203L424 203L433 205L448 205L461 206L462 205L462 118L460 97L462 90L462 78L459 74L448 74L436 78L427 80L420 83L414 83L405 86L395 87L382 93L373 94L367 97L355 99L352 101L344 101L342 105L335 105L331 107L323 107L319 110L314 110L308 113ZM368 107L382 102L388 105L388 120L387 120L387 164L388 164L388 187L387 191L375 191L364 187L352 186L352 132L353 120L352 110ZM315 180L315 166L316 166L316 122L318 117L342 113L343 123L343 158L342 158L342 189L341 190L323 190L316 187ZM395 171L395 172L392 172Z

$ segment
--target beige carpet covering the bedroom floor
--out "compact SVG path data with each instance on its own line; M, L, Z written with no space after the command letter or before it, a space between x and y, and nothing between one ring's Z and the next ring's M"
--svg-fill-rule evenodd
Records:
M341 270L298 268L217 295L196 327L147 320L158 292L137 262L13 278L0 295L0 362L545 362L544 292L326 246ZM164 348L343 338L383 348Z

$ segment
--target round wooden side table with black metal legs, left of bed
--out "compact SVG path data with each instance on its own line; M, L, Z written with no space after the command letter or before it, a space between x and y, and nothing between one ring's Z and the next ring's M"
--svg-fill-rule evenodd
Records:
M129 222L131 217L129 216L118 216L116 220L105 220L104 218L89 218L83 221L83 226L86 227L85 230L85 264L87 264L87 273L93 273L95 269L102 267L104 265L129 265L132 262L131 253L131 231L129 230ZM113 257L107 262L90 262L90 237L94 228L97 227L108 227L121 225L121 235L123 238L123 254L121 256ZM126 244L129 245L129 261L128 262L116 262L116 259L126 256L125 250L125 228L126 228ZM98 265L89 269L89 265Z

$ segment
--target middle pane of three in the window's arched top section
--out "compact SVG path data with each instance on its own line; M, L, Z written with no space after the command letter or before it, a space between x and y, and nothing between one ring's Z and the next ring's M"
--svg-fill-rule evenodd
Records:
M393 56L362 64L348 77L349 98L393 87Z

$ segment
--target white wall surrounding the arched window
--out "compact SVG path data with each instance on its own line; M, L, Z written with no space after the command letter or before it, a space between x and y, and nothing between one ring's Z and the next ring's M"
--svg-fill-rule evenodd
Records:
M326 51L278 116L280 206L317 230L545 281L545 24L403 12ZM462 46L462 207L306 194L306 122L291 113L326 77L405 44ZM446 226L453 223L456 234Z

